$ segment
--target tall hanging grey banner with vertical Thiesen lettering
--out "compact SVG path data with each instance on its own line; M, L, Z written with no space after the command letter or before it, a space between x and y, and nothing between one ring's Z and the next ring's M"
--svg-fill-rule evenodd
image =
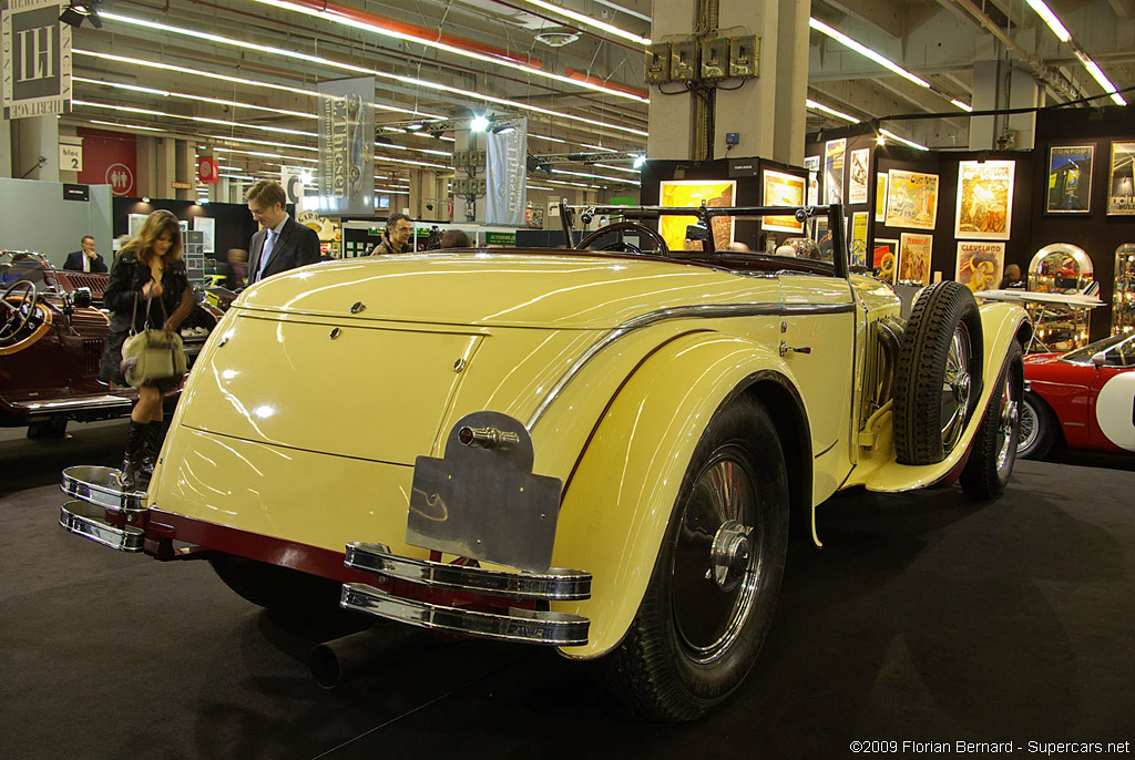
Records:
M375 77L319 83L316 206L325 214L375 213Z

